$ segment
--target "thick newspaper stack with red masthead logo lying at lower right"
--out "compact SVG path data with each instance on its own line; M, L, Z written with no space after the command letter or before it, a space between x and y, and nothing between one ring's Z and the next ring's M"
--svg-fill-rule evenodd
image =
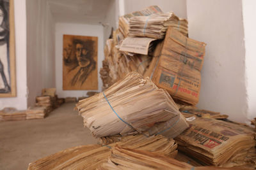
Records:
M249 127L213 118L196 118L189 124L175 138L182 152L205 165L255 167L255 132Z

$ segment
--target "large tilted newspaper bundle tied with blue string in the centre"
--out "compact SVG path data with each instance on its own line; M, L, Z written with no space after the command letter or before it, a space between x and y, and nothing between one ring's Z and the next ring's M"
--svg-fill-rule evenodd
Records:
M172 97L136 72L76 108L95 138L136 133L174 138L188 127Z

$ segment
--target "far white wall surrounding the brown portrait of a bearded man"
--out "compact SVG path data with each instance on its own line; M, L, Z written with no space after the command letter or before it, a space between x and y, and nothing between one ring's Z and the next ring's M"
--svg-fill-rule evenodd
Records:
M63 61L63 34L77 36L97 36L98 37L98 91L102 89L102 80L100 78L100 67L104 59L104 42L102 25L86 24L66 24L56 23L55 25L55 63L56 63L56 88L59 97L81 97L86 96L87 90L62 90L62 61ZM92 90L90 90L92 91Z

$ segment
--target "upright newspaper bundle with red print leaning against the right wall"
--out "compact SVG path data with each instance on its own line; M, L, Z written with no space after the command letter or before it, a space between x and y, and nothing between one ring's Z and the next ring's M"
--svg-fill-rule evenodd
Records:
M168 27L152 81L173 99L195 105L199 100L205 43Z

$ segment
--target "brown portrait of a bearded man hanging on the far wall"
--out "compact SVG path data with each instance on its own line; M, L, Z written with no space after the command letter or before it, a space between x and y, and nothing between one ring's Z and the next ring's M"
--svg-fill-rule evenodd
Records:
M98 90L98 38L63 35L63 90Z

